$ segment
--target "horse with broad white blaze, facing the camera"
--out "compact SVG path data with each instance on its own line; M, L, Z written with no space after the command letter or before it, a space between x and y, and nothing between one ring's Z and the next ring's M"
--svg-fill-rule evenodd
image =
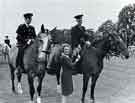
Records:
M42 81L46 72L47 65L47 48L48 43L50 41L50 35L45 35L44 33L40 33L40 36L37 36L33 43L31 43L25 50L24 53L24 70L27 75L28 85L29 85L29 94L30 94L30 102L34 103L34 79L37 77L38 85L37 85L37 103L41 103L41 90L42 90ZM16 57L17 57L18 49L16 46L13 46L8 53L8 64L11 72L11 81L12 81L12 91L16 93L15 90L15 71L16 68ZM21 86L21 77L22 73L17 74L18 80L18 93L23 93Z

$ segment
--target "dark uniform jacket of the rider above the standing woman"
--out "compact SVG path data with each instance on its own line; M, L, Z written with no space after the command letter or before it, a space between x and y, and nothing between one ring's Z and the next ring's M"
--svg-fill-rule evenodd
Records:
M78 25L72 27L71 29L71 40L72 40L72 47L77 47L78 44L83 45L84 41L88 40L88 35L85 33L85 27Z

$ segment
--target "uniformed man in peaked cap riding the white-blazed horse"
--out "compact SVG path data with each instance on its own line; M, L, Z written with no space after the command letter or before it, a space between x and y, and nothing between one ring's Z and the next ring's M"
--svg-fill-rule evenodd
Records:
M30 25L32 21L32 13L25 13L24 20L25 23L18 26L16 33L17 33L17 47L18 47L18 55L16 59L16 67L18 68L19 72L24 72L23 67L23 56L25 48L35 39L36 32L35 28Z

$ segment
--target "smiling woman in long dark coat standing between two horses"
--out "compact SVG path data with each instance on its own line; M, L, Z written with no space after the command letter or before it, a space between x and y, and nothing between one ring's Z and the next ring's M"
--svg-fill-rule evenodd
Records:
M66 98L70 96L73 92L72 71L77 60L74 63L72 63L71 54L72 54L71 46L69 44L64 44L63 53L61 56L62 103L66 103Z

